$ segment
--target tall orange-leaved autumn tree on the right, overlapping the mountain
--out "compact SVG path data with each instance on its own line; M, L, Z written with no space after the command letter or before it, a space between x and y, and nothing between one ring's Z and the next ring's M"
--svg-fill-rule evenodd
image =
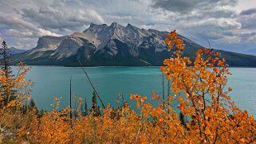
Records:
M188 135L195 135L191 141L254 142L255 120L230 101L229 92L232 89L226 88L230 72L221 53L202 48L192 61L190 57L183 56L185 45L175 30L167 34L165 43L169 51L174 49L174 56L163 61L161 72L167 80L171 80L173 94L179 95L179 110L191 119L186 130ZM243 130L234 134L234 130L238 132L241 125L245 126Z

